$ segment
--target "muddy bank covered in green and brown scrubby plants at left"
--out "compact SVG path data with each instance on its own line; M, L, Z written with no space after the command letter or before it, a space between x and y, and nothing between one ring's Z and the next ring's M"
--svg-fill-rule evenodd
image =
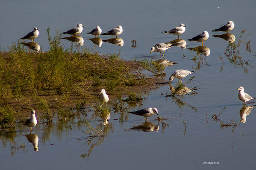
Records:
M52 119L51 109L68 118L70 111L78 111L84 104L97 101L95 91L106 89L125 92L135 85L150 84L147 78L132 74L130 65L119 55L99 55L83 48L78 52L64 49L60 33L51 37L47 28L50 50L30 52L26 46L13 43L9 51L0 51L0 124L17 122L18 113L35 108L43 113L43 121ZM7 125L5 125L7 126Z

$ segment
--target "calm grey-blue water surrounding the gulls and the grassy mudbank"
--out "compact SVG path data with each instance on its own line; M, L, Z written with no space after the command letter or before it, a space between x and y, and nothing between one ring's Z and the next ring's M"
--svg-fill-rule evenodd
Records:
M218 8L219 7L219 8ZM187 42L187 48L173 47L165 52L165 58L178 63L166 67L166 81L176 69L196 70L195 78L187 84L189 88L197 87L196 95L184 95L177 100L165 97L170 93L168 84L150 92L141 108L157 107L160 116L164 118L167 127L149 118L148 124L144 118L136 115L111 112L109 124L104 125L98 118L91 121L92 127L103 130L104 137L90 137L86 134L87 127L78 120L58 121L53 125L38 124L31 138L37 141L38 152L29 143L27 128L18 127L15 132L1 136L0 163L1 169L70 169L72 167L93 169L238 169L254 167L256 141L256 109L252 109L241 123L240 112L244 111L243 103L238 100L238 87L244 86L245 92L256 97L256 69L244 64L235 66L230 63L225 50L229 44L221 38L224 32L212 32L232 20L235 29L230 33L236 38L236 43L242 29L246 32L241 37L244 40L238 47L243 61L249 61L255 66L256 27L255 1L7 1L0 2L0 46L8 50L8 46L16 43L34 27L39 30L35 42L47 51L46 28L67 31L78 23L85 25L80 34L85 47L102 54L120 53L127 60L158 60L159 54L150 54L150 48L156 43L169 42L177 39L177 35L161 34L184 23L187 28L180 37L184 40L194 37L203 31L209 32L209 39L204 46L210 49L210 55L202 55L197 62L191 60L197 53L188 48L200 46L200 42ZM123 46L103 42L101 47L87 40L93 35L87 35L100 25L103 32L122 25ZM249 33L251 33L249 35ZM248 37L247 37L248 35ZM68 37L68 36L62 36ZM100 36L102 40L112 36ZM132 48L132 40L137 47ZM250 41L251 52L246 51L246 43ZM29 40L26 40L29 42ZM65 47L71 42L62 40ZM81 50L84 46L79 47ZM222 61L220 60L222 58ZM197 56L198 58L198 56ZM199 63L199 65L198 65ZM200 66L200 69L197 68ZM222 69L221 69L222 67ZM150 72L147 72L151 75ZM189 80L184 78L183 81ZM177 79L172 82L177 83ZM164 94L164 95L161 95ZM247 102L247 106L255 105L255 101ZM214 121L212 115L217 115L224 124L233 120L237 126L222 128L220 121ZM139 109L131 108L131 111ZM86 111L91 118L93 112ZM124 118L125 117L125 118ZM184 125L184 123L185 125ZM186 127L186 128L185 128ZM90 143L91 142L91 143ZM37 142L35 142L37 143ZM25 145L24 148L19 148ZM91 150L90 150L91 149ZM203 164L203 162L218 162L218 164ZM30 167L32 166L32 167Z

